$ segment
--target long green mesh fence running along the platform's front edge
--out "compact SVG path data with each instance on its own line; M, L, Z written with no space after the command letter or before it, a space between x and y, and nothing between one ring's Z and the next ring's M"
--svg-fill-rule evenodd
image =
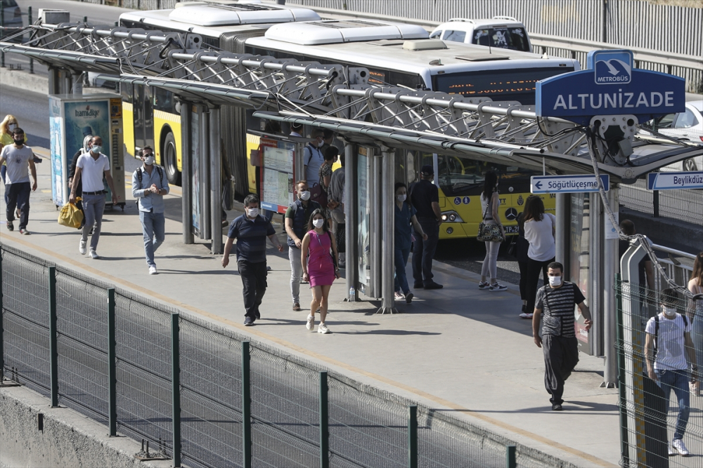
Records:
M175 467L563 462L0 243L0 380ZM146 450L139 453L146 457Z

